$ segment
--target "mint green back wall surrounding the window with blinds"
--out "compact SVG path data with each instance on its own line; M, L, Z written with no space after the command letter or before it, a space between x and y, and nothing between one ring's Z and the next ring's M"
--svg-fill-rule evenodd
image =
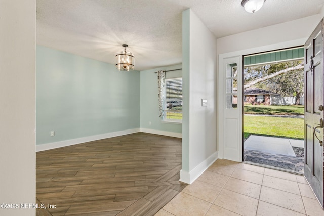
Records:
M159 70L179 68L182 68L182 64L141 71L141 128L182 133L182 124L161 122L157 96L157 73L154 73ZM173 77L182 77L182 71L167 72L166 78Z

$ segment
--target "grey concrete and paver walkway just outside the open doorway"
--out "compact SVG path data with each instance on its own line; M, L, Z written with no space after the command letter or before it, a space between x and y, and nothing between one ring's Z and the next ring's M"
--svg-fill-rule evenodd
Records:
M304 158L292 147L304 147L303 140L251 135L244 143L244 161L304 173Z

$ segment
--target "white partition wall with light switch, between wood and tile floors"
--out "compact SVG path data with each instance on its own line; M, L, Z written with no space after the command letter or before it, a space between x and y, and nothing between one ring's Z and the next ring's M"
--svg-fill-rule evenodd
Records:
M217 158L216 38L190 10L183 12L183 160L180 181L192 183ZM208 106L201 106L207 99Z

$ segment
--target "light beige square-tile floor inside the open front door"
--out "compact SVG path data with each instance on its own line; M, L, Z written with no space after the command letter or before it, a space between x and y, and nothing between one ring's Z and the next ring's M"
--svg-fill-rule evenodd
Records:
M304 176L218 159L155 215L324 215Z

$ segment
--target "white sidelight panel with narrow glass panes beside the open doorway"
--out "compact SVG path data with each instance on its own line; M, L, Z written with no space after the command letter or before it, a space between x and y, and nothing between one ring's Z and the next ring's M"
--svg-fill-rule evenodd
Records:
M242 56L219 62L218 156L242 161Z

